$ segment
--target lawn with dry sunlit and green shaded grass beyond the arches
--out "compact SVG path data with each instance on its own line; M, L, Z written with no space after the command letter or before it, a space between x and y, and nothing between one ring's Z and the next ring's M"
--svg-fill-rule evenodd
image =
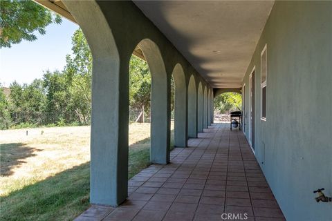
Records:
M149 128L129 125L129 178L149 165ZM73 220L89 207L90 126L0 131L0 150L0 220Z

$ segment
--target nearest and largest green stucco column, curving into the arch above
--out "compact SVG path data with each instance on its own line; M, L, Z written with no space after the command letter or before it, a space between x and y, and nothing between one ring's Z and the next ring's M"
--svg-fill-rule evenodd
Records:
M62 1L93 55L90 202L118 206L128 189L128 70L95 1ZM121 64L121 66L120 66Z

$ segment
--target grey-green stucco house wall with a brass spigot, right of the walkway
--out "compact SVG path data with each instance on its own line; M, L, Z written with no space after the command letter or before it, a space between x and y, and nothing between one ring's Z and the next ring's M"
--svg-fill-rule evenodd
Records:
M267 44L266 122L261 120L261 51ZM332 220L332 2L276 1L243 78L255 66L255 156L286 220Z

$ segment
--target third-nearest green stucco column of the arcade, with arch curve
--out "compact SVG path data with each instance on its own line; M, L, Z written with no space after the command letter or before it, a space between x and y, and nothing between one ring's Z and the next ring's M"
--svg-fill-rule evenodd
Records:
M174 79L174 146L187 146L187 86L181 64L176 64Z

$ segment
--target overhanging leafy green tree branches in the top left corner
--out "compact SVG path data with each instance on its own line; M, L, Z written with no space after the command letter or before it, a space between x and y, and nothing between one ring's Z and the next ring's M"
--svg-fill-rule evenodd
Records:
M23 39L35 41L35 31L45 35L50 23L61 23L59 15L30 0L0 1L0 48L10 48Z

